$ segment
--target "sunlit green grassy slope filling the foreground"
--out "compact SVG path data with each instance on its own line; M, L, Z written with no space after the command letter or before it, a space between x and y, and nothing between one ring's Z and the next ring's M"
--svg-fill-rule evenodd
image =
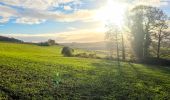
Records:
M67 58L61 47L0 43L0 99L170 99L170 68Z

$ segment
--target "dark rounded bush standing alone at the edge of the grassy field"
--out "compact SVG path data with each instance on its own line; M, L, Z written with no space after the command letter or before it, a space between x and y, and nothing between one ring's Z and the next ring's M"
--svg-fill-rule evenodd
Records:
M70 47L63 47L61 54L63 54L66 57L71 57L73 56L74 49Z

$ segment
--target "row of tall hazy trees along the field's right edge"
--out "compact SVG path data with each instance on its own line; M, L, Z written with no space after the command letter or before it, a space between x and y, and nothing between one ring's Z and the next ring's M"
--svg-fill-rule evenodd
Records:
M125 25L118 27L114 23L106 25L106 39L113 41L116 46L117 59L125 60L127 44L126 37L131 43L136 59L147 59L156 55L160 59L161 48L169 49L170 31L168 30L169 18L163 10L157 7L139 5L126 12ZM167 54L170 55L169 52Z

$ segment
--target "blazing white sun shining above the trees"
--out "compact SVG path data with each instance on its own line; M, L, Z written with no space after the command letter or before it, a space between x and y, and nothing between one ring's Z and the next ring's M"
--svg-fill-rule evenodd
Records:
M104 23L111 22L118 26L122 26L124 12L125 5L113 0L107 0L107 4L99 9L95 18Z

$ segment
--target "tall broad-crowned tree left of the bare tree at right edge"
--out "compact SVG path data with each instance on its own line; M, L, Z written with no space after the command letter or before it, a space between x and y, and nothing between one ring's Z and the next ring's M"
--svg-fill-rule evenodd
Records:
M136 6L128 15L128 25L134 37L134 51L138 58L149 56L151 33L156 28L160 9L150 6Z

